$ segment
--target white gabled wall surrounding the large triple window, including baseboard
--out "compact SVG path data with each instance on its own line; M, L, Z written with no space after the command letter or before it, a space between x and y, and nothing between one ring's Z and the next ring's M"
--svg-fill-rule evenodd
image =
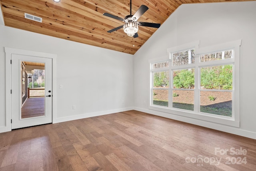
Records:
M164 117L256 139L256 2L183 4L134 55L134 106ZM200 40L200 47L242 39L240 46L240 128L148 109L148 60L166 49ZM146 104L144 104L146 101Z

